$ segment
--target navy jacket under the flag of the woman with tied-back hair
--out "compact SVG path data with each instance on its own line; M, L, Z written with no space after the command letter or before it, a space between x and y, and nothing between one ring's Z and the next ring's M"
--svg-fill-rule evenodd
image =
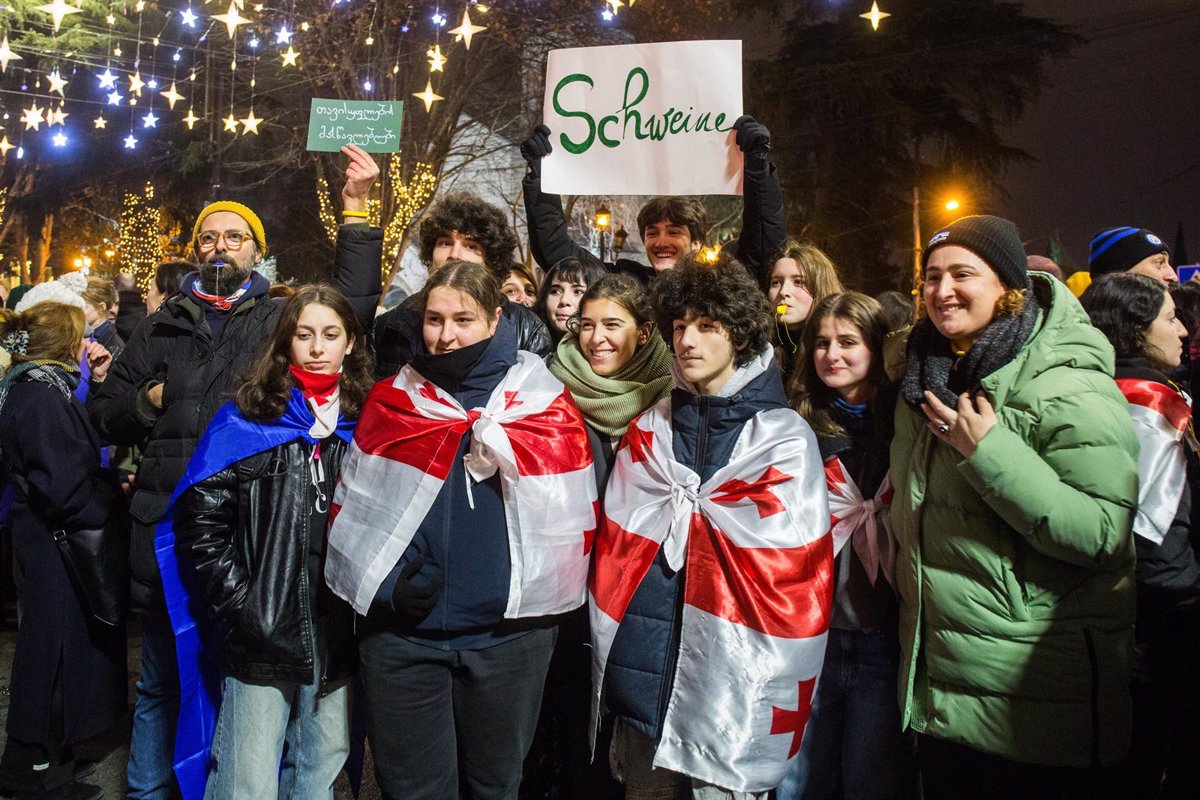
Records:
M424 350L424 344L420 345ZM420 369L421 359L451 356L420 355L413 367L439 389L454 396L466 409L482 408L517 361L516 331L506 317L500 317L496 335L488 341L475 363L461 375L438 375ZM409 628L397 628L408 638L449 643L455 649L472 649L494 643L492 633L504 624L509 599L509 534L499 473L475 483L468 497L463 457L470 435L458 445L450 474L416 529L412 543L392 567L376 594L376 603L391 608L391 590L406 564L421 564L413 583L440 583L437 604L430 615ZM474 507L472 507L474 505Z

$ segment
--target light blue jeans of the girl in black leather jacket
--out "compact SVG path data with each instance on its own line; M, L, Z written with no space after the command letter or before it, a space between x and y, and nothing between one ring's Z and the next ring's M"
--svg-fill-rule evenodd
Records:
M350 752L349 700L346 684L322 694L318 680L246 682L227 676L205 800L332 798L334 781Z

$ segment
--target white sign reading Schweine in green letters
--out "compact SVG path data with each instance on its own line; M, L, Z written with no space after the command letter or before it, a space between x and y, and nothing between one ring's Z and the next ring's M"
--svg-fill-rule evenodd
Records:
M551 50L542 118L554 194L742 194L742 42Z

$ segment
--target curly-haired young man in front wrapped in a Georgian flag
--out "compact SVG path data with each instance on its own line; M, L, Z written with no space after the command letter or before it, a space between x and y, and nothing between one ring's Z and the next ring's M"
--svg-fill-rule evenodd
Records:
M677 389L630 425L605 494L594 712L616 715L626 796L764 800L799 751L824 656L821 457L740 263L685 255L652 300Z

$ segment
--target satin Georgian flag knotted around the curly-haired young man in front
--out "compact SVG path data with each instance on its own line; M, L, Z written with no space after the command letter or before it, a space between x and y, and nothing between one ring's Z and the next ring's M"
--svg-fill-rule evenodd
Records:
M760 411L704 483L674 458L670 398L630 425L589 585L593 722L617 628L660 548L684 569L684 607L654 766L772 789L800 748L833 603L824 473L804 421Z

